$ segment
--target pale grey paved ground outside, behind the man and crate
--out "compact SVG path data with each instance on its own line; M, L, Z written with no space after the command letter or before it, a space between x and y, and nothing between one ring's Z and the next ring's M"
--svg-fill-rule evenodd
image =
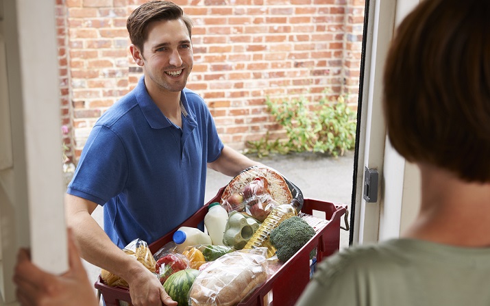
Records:
M254 157L251 158L254 159ZM305 198L347 204L348 209L350 209L352 174L354 171L354 153L352 151L347 152L343 157L326 157L312 153L301 153L255 159L278 170L302 190ZM228 184L230 179L231 177L217 173L214 170L208 170L205 203L217 194L219 188ZM95 209L93 217L102 226L101 207ZM344 225L343 221L342 225ZM348 245L349 233L341 229L341 248ZM95 283L100 269L87 262L84 262L84 265L90 281Z

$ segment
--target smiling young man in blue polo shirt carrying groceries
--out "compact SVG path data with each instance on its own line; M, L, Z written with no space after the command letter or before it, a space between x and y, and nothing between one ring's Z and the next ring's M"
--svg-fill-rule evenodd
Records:
M193 68L191 20L169 1L127 19L144 76L99 118L66 195L66 219L88 262L130 285L133 305L176 305L158 279L121 251L148 244L204 205L206 168L234 176L258 163L224 146L206 103L185 88ZM104 208L104 231L90 216Z

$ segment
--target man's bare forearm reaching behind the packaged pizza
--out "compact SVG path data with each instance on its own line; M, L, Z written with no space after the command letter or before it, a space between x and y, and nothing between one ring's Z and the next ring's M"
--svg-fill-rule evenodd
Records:
M229 146L224 146L218 159L214 162L208 163L208 168L223 173L223 175L234 177L242 170L258 165L262 164L255 162L254 160L250 160L248 157L238 153Z

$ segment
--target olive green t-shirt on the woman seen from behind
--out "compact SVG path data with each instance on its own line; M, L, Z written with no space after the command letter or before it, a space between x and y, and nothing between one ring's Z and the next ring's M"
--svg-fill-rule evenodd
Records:
M296 306L489 306L490 247L353 246L318 265Z

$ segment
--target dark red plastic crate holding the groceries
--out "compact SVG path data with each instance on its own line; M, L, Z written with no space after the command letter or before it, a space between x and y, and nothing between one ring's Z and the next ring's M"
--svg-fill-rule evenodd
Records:
M197 227L199 222L204 220L208 212L208 205L212 202L219 202L224 188L206 205L201 207L191 218L182 222L181 225L173 229L167 235L149 245L151 253L155 253L162 246L172 240L173 233L181 226ZM334 203L319 201L315 199L304 199L302 212L313 215L313 211L323 212L326 220L330 220L327 225L321 228L291 259L284 263L269 279L257 288L247 301L239 303L237 306L265 306L265 296L272 292L273 305L292 306L296 303L304 288L310 281L310 252L317 248L317 263L324 257L339 251L341 216L347 211L347 205L335 205ZM108 306L122 305L119 302L131 302L130 291L126 288L114 288L104 284L99 276L95 283L103 299ZM267 298L266 298L267 300Z

